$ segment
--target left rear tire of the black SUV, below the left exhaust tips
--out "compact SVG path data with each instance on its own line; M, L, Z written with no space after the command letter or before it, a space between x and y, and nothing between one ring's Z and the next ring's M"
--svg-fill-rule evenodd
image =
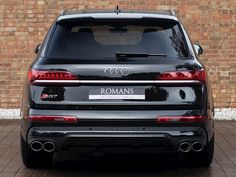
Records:
M53 153L35 152L30 149L24 138L20 137L21 157L27 168L50 167L53 161Z

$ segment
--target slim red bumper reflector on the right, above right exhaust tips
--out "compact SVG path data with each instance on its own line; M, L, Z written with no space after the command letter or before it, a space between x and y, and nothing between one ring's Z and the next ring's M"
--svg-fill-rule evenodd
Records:
M156 121L159 122L202 122L207 116L159 116Z

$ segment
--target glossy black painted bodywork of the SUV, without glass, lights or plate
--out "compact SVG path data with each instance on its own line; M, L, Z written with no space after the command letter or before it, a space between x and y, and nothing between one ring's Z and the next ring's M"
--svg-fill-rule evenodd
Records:
M77 60L50 59L47 45L55 29L50 28L45 41L31 66L37 70L70 71L80 80L155 80L160 73L177 70L201 70L191 41L183 34L191 58L158 60L154 64L141 61L112 64L80 64ZM92 51L91 51L92 52ZM108 77L104 67L126 67L129 75ZM145 90L145 100L89 100L89 89L96 87L132 87ZM41 95L56 94L56 98L42 100ZM76 116L77 123L31 122L29 115ZM157 123L158 116L202 115L204 122ZM178 151L182 141L201 140L208 143L213 134L213 102L208 82L205 84L153 84L153 83L97 83L32 85L26 81L21 107L21 135L27 143L33 140L52 141L56 150L85 148L96 151L98 147L137 147L164 151ZM127 152L127 151L126 151Z

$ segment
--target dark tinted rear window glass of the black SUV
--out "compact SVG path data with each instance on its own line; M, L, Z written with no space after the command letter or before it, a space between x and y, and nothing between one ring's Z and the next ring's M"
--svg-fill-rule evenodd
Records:
M56 25L47 58L116 60L116 52L165 54L168 58L189 56L181 27L174 20L81 19ZM157 58L160 56L141 60Z

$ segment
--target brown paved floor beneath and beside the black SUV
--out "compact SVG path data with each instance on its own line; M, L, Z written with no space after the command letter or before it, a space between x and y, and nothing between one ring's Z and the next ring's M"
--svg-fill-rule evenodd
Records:
M146 158L56 155L50 169L27 169L19 150L19 121L0 120L0 177L236 177L236 121L217 121L214 162L210 168L181 165L171 156Z

